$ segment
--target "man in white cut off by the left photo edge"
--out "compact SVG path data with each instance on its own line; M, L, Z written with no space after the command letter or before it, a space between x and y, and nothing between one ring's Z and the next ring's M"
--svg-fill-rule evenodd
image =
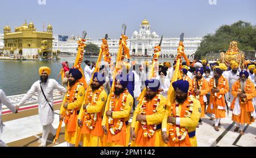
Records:
M5 92L0 89L0 147L8 147L5 142L1 140L1 134L3 132L3 127L5 126L2 122L2 104L7 106L13 113L18 113L19 106L13 105L10 100L7 99Z

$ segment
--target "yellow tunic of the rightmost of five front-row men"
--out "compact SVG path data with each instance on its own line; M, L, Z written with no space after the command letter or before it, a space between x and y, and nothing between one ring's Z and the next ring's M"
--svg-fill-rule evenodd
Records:
M196 130L196 126L201 117L200 101L197 100L195 97L193 97L193 104L194 106L193 106L193 112L191 113L191 117L190 118L180 117L180 127L187 127L188 133ZM179 105L179 115L181 113L181 106L182 104ZM164 115L163 123L162 123L162 131L167 131L167 134L169 133L168 124L167 124L168 116L170 116L170 112L166 110L166 114ZM197 146L196 136L189 138L189 140L192 147ZM171 141L171 136L169 136L169 141ZM165 146L167 145L165 144Z

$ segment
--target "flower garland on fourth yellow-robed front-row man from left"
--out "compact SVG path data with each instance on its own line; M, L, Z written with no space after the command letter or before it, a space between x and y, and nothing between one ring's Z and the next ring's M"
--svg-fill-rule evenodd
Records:
M158 95L156 95L154 97L154 105L153 105L153 114L156 113L156 109L158 108L159 104L160 104L160 93L158 93ZM147 100L146 97L144 97L144 99L142 100L142 104L140 107L140 112L142 115L146 115L146 108L147 108ZM156 124L154 125L149 125L149 130L147 130L147 122L146 121L141 121L142 124L142 130L143 130L143 136L144 137L148 137L151 138L151 136L153 136L155 134L155 130L156 130Z

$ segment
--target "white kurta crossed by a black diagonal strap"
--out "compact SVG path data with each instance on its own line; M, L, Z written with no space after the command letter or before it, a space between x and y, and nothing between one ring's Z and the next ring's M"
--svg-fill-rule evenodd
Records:
M49 104L53 108L53 89L59 90L61 93L67 92L63 86L61 86L55 79L48 79L46 83L41 83L44 94L49 102ZM26 103L35 92L38 92L38 113L40 117L40 122L42 126L49 125L53 122L54 119L54 112L50 108L49 104L47 103L42 90L40 88L40 81L36 81L28 90L27 94L23 96L22 100L19 102L19 106Z

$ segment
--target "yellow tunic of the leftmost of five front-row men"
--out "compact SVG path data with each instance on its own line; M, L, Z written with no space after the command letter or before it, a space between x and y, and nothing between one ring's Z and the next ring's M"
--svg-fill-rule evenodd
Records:
M73 103L69 103L67 106L68 110L72 110L72 109L80 109L82 106L82 103L84 102L84 95L85 95L85 89L84 86L80 86L79 88L79 92L77 93L77 100L74 101ZM64 97L63 103L61 104L60 107L60 114L63 113L63 104L65 102L67 98L67 93ZM77 123L77 121L76 121ZM67 132L67 124L65 125L65 140L70 143L70 144L75 144L76 142L76 135L77 135L77 129L78 129L78 125L76 126L76 132L75 133L68 133Z

